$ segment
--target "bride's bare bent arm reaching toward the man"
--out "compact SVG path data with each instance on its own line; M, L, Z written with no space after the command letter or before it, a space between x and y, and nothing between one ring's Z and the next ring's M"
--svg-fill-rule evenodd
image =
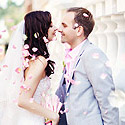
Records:
M42 62L40 62L40 60ZM57 113L42 107L35 101L30 102L30 99L33 98L36 88L43 77L42 75L45 73L45 68L47 66L47 62L44 57L40 57L40 60L35 60L32 65L29 66L28 72L26 72L24 84L27 87L30 87L30 89L27 91L26 89L21 89L18 106L57 123L59 118Z

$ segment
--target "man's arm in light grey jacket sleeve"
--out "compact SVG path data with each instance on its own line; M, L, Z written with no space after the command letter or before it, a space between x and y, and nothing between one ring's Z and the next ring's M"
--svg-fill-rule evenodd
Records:
M99 49L89 50L85 55L84 66L92 84L95 97L101 110L104 125L118 125L119 112L110 105L108 97L115 90L107 57Z

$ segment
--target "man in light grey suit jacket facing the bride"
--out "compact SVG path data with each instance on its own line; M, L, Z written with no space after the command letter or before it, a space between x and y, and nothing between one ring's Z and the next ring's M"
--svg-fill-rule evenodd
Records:
M88 36L94 27L92 14L85 8L70 8L59 32L62 43L71 48L65 56L65 70L56 91L64 104L59 125L118 125L118 109L108 97L115 90L106 55Z

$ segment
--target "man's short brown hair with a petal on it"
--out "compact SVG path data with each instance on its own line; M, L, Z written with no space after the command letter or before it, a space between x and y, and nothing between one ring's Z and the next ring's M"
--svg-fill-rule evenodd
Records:
M74 12L74 21L78 26L82 26L84 29L84 36L88 37L92 32L95 25L93 15L87 9L82 7L72 7L67 10L67 12Z

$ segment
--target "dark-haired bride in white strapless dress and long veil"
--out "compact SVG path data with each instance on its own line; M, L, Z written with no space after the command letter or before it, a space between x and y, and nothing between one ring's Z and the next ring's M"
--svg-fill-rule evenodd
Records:
M46 43L55 31L47 11L30 12L18 25L0 67L0 125L58 124L58 113L42 105L54 72Z

